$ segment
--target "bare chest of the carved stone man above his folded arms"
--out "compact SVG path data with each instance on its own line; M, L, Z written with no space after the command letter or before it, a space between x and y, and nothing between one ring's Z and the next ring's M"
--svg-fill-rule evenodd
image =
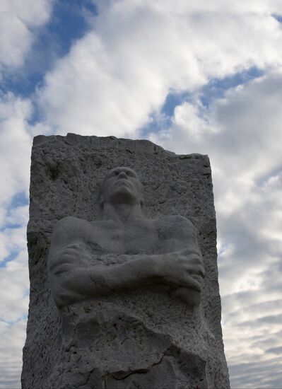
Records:
M128 223L113 220L86 221L74 217L68 219L66 225L71 228L70 236L76 236L81 243L105 253L160 254L195 243L194 226L182 216L134 219ZM71 239L69 243L72 243Z

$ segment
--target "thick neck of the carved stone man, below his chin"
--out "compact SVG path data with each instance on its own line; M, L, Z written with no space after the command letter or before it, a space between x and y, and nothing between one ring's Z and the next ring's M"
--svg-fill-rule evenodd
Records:
M134 219L143 219L141 205L105 203L103 207L103 219L115 220L121 223L127 223Z

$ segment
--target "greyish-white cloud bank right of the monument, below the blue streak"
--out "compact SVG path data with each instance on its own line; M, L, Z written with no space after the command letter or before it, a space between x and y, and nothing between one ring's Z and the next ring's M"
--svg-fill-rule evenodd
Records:
M282 349L269 352L282 346L281 86L281 72L273 72L206 110L184 103L172 127L151 134L165 149L211 158L223 335L234 388L276 388L281 380L274 354Z

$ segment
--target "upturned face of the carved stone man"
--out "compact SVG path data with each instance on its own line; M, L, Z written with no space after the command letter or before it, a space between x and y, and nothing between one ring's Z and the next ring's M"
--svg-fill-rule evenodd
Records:
M102 199L112 204L143 204L142 184L131 168L114 168L102 184Z

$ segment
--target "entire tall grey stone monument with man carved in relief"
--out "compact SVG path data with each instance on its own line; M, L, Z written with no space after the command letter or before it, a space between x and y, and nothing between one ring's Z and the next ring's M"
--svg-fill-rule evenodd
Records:
M22 387L229 388L207 156L35 137Z

